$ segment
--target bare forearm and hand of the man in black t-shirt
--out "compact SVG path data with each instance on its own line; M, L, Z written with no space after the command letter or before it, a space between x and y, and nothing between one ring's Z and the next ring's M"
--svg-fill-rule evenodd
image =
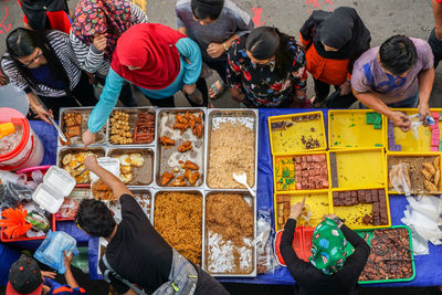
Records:
M119 197L123 194L133 196L130 190L122 182L122 180L119 180L119 178L98 165L95 156L88 156L86 159L84 159L84 167L86 167L86 169L91 172L97 175L99 179L102 179L103 182L112 189L115 198L117 198L118 201Z

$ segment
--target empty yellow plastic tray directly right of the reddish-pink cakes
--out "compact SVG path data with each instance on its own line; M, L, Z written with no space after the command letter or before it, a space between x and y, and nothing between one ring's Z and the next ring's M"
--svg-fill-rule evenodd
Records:
M330 165L332 154L336 154L337 188L379 188L386 186L383 148L329 151ZM333 186L334 170L332 167L329 169Z

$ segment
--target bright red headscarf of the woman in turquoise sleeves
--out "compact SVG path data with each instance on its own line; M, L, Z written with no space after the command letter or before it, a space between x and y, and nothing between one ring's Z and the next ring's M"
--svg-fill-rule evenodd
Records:
M180 72L180 56L175 44L186 38L160 23L139 23L117 42L112 69L122 77L147 89L169 86ZM130 71L127 65L141 67Z

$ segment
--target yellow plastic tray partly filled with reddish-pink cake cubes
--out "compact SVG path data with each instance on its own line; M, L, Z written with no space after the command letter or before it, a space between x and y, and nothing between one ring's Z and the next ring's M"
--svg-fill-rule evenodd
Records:
M277 183L278 179L282 177L282 170L284 168L288 169L290 177L296 178L295 176L295 164L293 164L293 157L295 156L314 156L314 155L326 155L326 161L327 161L327 176L328 176L328 188L332 187L332 181L330 181L330 161L328 158L328 152L327 151L312 151L312 152L297 152L293 155L275 155L273 156L273 186L275 189L275 192L286 192L286 191L295 191L296 190L296 182L293 185L286 185L286 189L283 189L280 183ZM281 164L278 160L282 159L286 164ZM319 189L318 189L319 190ZM327 190L327 189L323 189ZM298 191L307 191L307 190L298 190Z

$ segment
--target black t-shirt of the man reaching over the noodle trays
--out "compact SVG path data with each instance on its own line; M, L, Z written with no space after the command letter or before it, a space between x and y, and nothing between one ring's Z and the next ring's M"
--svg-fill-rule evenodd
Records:
M154 229L134 197L123 194L119 202L122 222L107 245L107 261L119 275L152 292L168 281L172 249ZM106 270L102 260L99 268L102 273ZM120 294L129 289L116 278L110 281Z

